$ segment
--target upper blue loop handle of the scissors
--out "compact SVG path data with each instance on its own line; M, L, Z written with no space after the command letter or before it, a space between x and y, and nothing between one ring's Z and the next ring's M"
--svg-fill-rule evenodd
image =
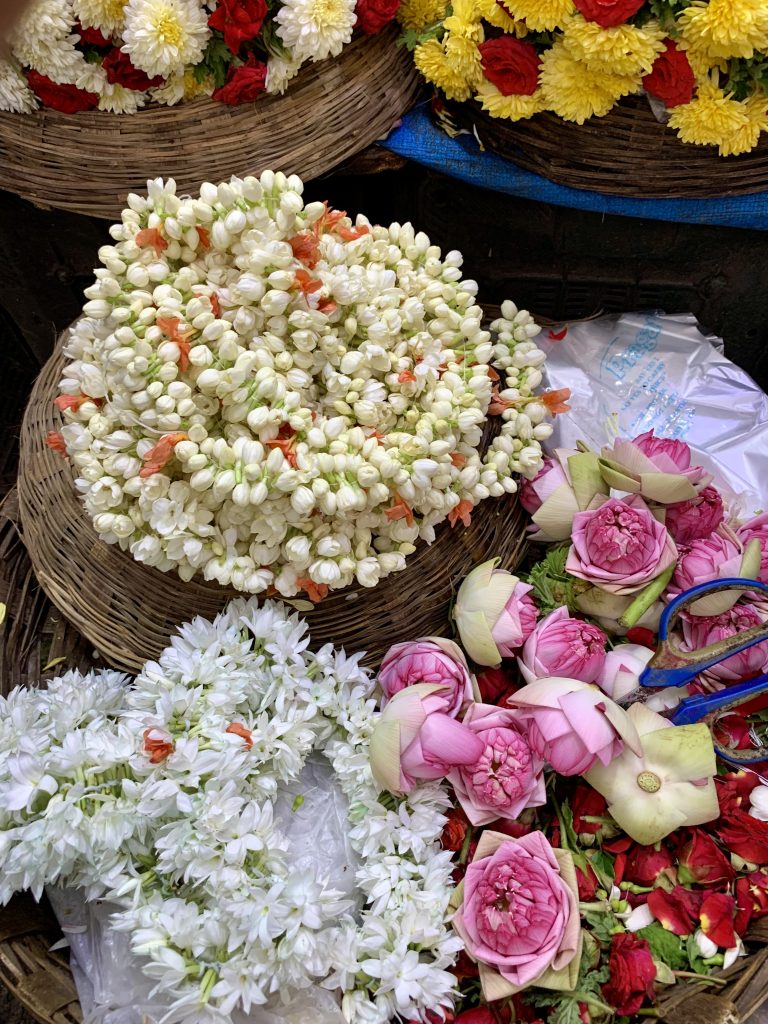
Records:
M768 594L768 584L744 579L711 580L691 587L670 601L658 625L658 649L640 675L641 686L684 686L706 669L711 669L762 640L768 640L768 624L764 624L710 644L701 650L684 651L670 642L670 629L680 611L700 597L721 590L761 590ZM750 680L750 683L754 682L756 680ZM749 684L739 683L739 686L743 685ZM766 680L763 680L763 688L766 688ZM732 693L735 689L736 687L731 686L728 691Z

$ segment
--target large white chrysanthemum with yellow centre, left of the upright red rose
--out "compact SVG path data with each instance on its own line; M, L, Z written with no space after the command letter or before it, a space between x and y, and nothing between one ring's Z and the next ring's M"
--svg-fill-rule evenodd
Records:
M135 68L167 77L203 57L210 31L199 0L128 0L123 49Z

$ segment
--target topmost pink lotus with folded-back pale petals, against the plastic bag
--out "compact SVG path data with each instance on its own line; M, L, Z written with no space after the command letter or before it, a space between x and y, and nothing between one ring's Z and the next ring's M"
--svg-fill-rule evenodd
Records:
M690 449L683 441L655 437L652 430L632 441L604 447L600 472L608 486L669 505L695 498L712 475L691 466Z

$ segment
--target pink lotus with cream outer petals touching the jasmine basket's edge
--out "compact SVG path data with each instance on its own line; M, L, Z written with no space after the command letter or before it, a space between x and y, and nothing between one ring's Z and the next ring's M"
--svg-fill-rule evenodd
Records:
M478 665L499 665L534 632L539 609L528 594L532 587L506 569L498 558L476 565L464 579L454 604L459 636Z

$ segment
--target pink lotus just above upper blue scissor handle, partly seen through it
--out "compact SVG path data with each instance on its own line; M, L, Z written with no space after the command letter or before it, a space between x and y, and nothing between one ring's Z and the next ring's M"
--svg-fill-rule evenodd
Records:
M683 550L667 590L667 598L711 580L726 580L729 577L754 580L759 570L760 551L757 546L745 552L739 538L723 523L710 537L693 541ZM738 596L739 591L711 594L695 601L688 610L694 615L719 615L732 607Z

